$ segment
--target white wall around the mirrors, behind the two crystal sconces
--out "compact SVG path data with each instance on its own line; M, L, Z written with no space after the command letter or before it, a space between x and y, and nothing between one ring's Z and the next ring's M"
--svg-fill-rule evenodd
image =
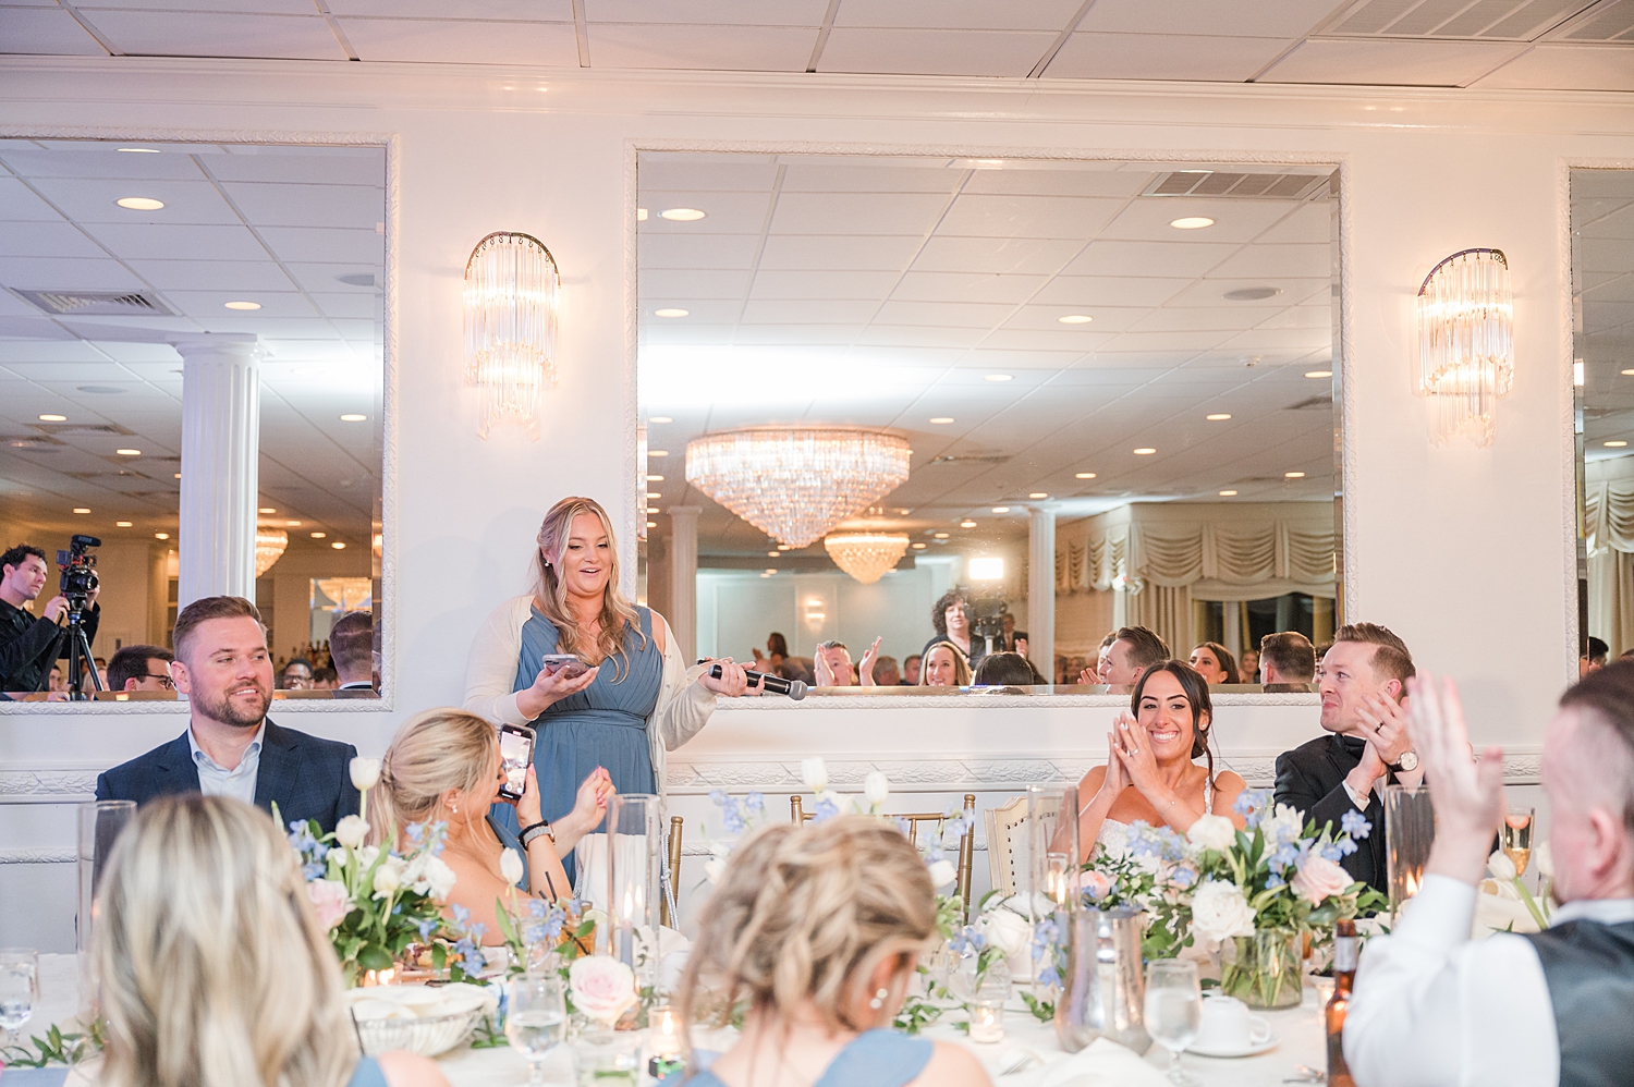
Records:
M556 499L596 495L627 536L636 517L627 485L634 150L757 141L804 150L1342 163L1350 615L1387 623L1425 665L1456 675L1477 742L1534 744L1574 657L1562 178L1567 162L1634 160L1626 98L0 60L5 124L16 134L394 139L397 327L387 418L395 476L386 535L395 597L386 603L395 685L379 711L348 705L284 714L376 754L407 713L459 700L471 633L525 588L533 536ZM472 245L497 229L544 239L562 268L560 387L536 443L515 432L477 438L474 394L459 381L461 271ZM1500 404L1492 448L1433 448L1425 405L1409 389L1410 301L1436 260L1472 245L1500 247L1510 258L1515 392ZM0 713L0 793L74 799L88 791L87 772L180 727L168 713ZM26 834L23 811L34 814L0 812L7 858L25 847L60 855L67 811L51 806ZM0 907L49 897L21 868L0 866ZM51 888L60 897L56 875ZM18 917L0 909L0 943L21 935Z

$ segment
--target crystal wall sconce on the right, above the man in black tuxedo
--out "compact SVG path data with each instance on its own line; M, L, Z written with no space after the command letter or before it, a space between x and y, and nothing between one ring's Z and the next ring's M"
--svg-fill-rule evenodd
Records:
M1497 248L1453 253L1418 288L1418 394L1435 400L1435 443L1467 435L1492 445L1497 400L1513 379L1510 265Z

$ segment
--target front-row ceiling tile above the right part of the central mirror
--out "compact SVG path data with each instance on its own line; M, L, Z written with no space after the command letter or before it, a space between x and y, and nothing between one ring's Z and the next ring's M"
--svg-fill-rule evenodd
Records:
M1288 49L1292 41L1178 33L1078 33L1067 39L1044 75L1242 83L1276 59L1276 54Z

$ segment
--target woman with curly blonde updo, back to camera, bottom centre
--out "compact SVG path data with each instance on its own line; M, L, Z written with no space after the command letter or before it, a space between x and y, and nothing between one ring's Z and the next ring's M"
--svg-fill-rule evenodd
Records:
M688 1027L747 1004L743 1033L706 1069L694 1051L686 1087L990 1087L962 1048L889 1030L935 932L925 861L894 825L760 830L709 896L678 994Z

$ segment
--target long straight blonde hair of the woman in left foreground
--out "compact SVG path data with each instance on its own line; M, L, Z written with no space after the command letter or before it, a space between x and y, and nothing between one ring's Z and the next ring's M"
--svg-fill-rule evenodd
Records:
M114 847L92 956L109 1087L342 1087L358 1040L296 853L248 804L147 804Z

